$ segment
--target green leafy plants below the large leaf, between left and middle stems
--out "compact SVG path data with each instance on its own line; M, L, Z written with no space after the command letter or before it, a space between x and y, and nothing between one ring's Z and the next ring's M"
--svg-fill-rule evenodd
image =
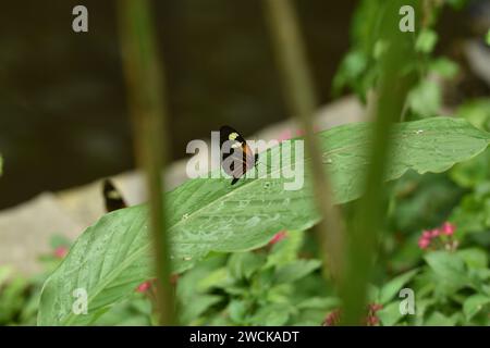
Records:
M321 324L338 300L324 296L320 261L298 257L304 239L304 232L290 231L256 251L209 256L179 281L181 323Z

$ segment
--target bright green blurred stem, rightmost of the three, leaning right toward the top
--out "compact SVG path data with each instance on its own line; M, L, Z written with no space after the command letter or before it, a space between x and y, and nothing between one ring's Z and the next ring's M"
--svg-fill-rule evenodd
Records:
M377 45L384 51L380 58L380 78L378 82L372 125L370 161L365 178L365 192L356 203L354 221L348 228L346 243L345 273L341 278L343 300L343 324L360 325L366 316L367 286L373 269L378 233L384 227L387 214L387 185L384 176L390 161L392 124L400 120L407 92L413 86L416 71L414 66L413 33L399 29L399 10L414 0L392 0L384 5L388 11L381 18L381 36ZM418 12L416 12L418 14Z

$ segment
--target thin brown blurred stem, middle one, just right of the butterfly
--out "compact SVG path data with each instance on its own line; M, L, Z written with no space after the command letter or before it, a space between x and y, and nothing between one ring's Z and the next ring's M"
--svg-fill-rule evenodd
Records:
M318 239L322 250L324 274L336 277L341 270L342 222L333 206L331 188L322 166L322 157L314 135L313 117L317 108L315 89L308 71L305 48L290 0L264 0L275 55L281 69L285 99L291 112L305 130L306 150L310 156L314 194L321 214ZM327 262L328 261L328 262Z

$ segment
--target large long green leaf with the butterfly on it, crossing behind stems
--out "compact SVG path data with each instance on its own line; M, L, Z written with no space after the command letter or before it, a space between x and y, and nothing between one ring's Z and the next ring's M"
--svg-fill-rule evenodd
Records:
M358 123L318 135L338 203L362 195L369 130L369 124ZM399 124L393 129L387 179L397 178L411 169L418 173L443 172L480 153L489 141L490 134L463 120L437 117ZM281 147L267 154L277 153ZM197 178L166 194L174 272L191 268L209 251L257 248L280 229L302 231L316 224L319 215L313 204L308 172L299 190L284 190L285 182L291 179L269 175L241 179L231 186L225 178ZM46 281L38 324L91 323L138 283L154 276L147 229L146 206L112 212L88 227ZM76 300L73 291L77 288L86 290L87 314L72 311Z

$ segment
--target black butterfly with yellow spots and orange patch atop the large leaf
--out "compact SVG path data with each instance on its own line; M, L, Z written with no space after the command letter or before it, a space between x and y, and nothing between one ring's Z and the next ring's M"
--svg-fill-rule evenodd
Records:
M232 185L257 163L258 153L254 153L244 137L230 126L220 128L220 149L221 166L233 177Z

